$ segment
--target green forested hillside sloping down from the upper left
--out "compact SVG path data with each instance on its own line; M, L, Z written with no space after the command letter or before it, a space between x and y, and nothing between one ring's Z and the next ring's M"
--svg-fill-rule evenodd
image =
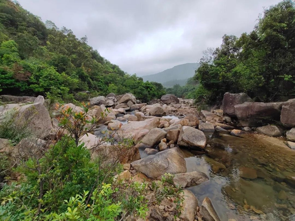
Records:
M2 94L68 101L87 97L81 91L92 96L132 92L143 100L164 93L161 84L144 83L99 55L87 37L78 39L50 21L44 24L11 0L0 0L0 89Z

